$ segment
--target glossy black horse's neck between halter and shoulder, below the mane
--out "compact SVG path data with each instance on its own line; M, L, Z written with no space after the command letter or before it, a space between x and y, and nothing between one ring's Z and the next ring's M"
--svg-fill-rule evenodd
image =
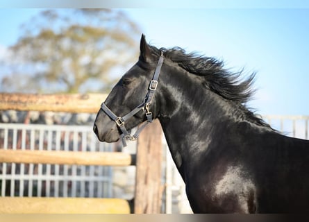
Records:
M224 134L226 126L235 121L235 108L205 89L198 76L181 68L169 67L162 78L165 84L159 94L159 119L176 167L185 180L186 165L206 155L214 132Z

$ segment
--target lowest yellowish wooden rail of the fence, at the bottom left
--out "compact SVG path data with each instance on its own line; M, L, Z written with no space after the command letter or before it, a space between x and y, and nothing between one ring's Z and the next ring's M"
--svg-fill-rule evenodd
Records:
M117 198L1 197L0 214L129 214L128 200Z

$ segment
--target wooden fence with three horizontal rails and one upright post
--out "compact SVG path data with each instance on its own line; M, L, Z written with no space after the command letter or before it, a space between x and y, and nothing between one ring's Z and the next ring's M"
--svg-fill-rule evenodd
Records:
M0 110L97 113L105 99L105 94L0 94ZM0 162L136 166L133 200L0 197L0 213L160 213L162 130L158 121L141 133L136 155L0 148Z

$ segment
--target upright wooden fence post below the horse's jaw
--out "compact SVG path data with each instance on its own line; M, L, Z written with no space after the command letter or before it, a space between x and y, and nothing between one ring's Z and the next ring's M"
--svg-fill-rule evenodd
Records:
M135 214L158 214L162 198L162 129L158 120L137 141Z

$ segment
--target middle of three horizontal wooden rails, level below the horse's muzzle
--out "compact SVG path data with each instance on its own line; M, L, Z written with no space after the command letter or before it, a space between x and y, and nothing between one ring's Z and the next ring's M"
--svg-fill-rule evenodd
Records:
M0 162L24 164L130 166L135 164L135 155L121 152L30 151L0 149Z

